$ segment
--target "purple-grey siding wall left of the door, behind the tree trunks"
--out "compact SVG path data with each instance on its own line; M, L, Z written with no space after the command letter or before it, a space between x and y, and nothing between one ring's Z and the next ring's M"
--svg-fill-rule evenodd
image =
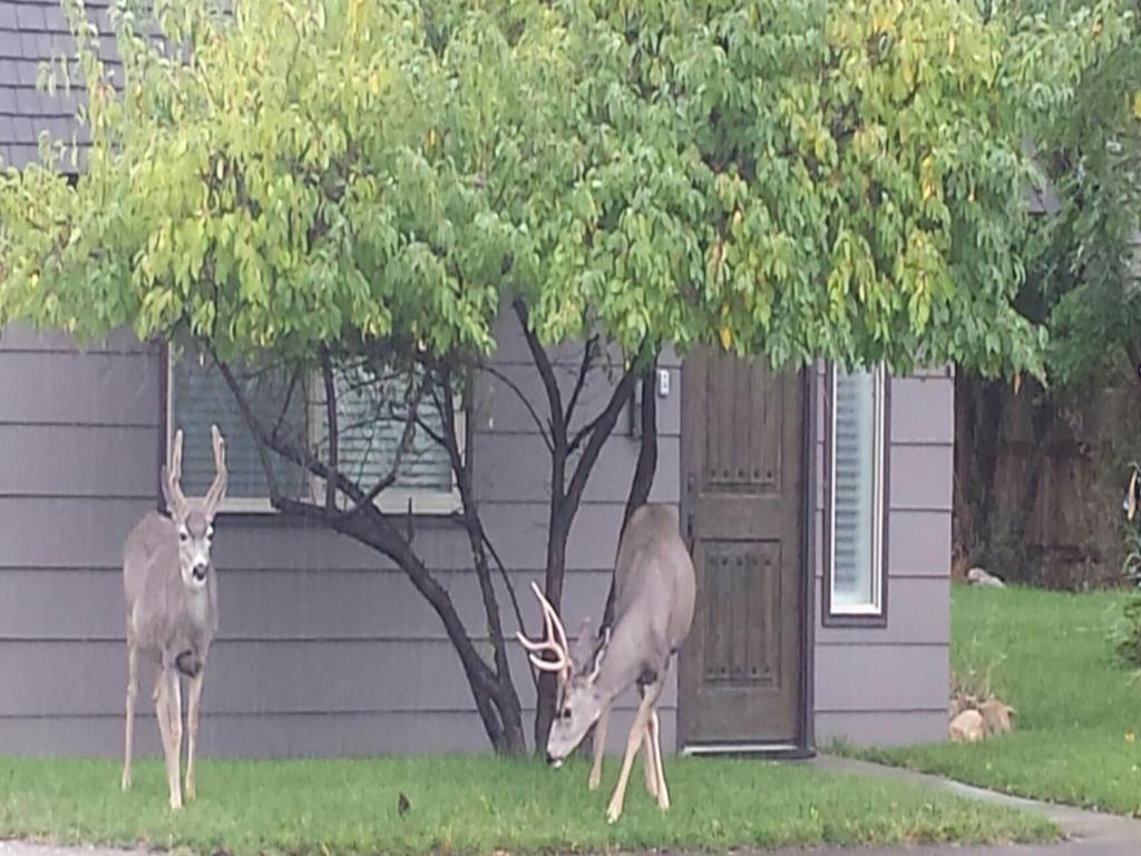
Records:
M505 320L495 364L543 414L529 356ZM573 382L576 356L559 356ZM659 399L652 499L678 496L678 364ZM123 539L156 502L161 353L114 334L86 353L60 334L0 333L0 754L119 756L127 680ZM605 403L589 385L580 419ZM570 533L564 614L597 622L609 584L638 441L623 417L598 462ZM545 563L549 459L526 407L502 382L477 383L469 413L483 515L536 628L526 583ZM466 538L443 519L414 519L414 547L483 632ZM443 627L404 574L354 541L273 516L217 522L221 627L203 695L205 756L358 756L480 752L488 748ZM516 622L502 586L505 630ZM516 685L529 734L534 692L518 646ZM139 751L157 753L144 691ZM677 691L661 705L673 746ZM608 744L624 743L633 694L620 700Z

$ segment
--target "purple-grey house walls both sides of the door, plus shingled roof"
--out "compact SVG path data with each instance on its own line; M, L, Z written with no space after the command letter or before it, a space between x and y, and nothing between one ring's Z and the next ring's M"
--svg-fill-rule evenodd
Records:
M111 31L107 0L88 0ZM114 62L113 42L102 42ZM38 64L73 48L58 0L0 0L0 163L35 158L41 131L70 139L81 94L38 92ZM1050 210L1049 200L1030 199ZM545 397L510 321L500 371L542 414ZM569 352L559 362L569 385ZM679 496L680 378L659 401L653 499ZM126 655L120 554L155 503L163 365L157 350L116 334L78 353L66 337L0 332L0 753L118 754ZM818 378L823 380L823 375ZM608 386L591 385L580 418ZM953 383L941 372L891 382L888 621L882 629L824 625L822 552L824 385L817 385L810 554L815 575L810 672L815 737L895 743L945 734L949 637ZM593 405L593 406L591 406ZM477 386L471 452L487 528L525 583L543 566L549 463L527 409L502 381ZM565 612L597 617L637 454L620 421L586 491L569 543ZM219 519L222 624L203 700L209 754L359 754L480 751L486 740L436 616L404 575L335 534L280 518ZM452 591L470 628L482 608L466 541L439 519L415 520L415 546ZM500 590L507 631L515 631ZM526 667L512 649L524 704ZM144 695L146 697L146 695ZM623 740L632 698L608 732ZM677 689L662 702L674 742ZM148 711L149 704L143 705ZM156 751L151 716L139 738Z

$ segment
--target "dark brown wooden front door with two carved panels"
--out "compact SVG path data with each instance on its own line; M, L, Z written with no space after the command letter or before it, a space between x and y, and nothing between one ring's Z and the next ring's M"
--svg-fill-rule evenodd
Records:
M703 349L682 370L686 530L697 605L679 654L682 745L800 741L803 389Z

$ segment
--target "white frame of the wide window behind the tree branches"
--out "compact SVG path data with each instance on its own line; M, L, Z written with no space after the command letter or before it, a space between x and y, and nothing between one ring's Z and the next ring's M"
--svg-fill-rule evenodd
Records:
M175 360L171 354L170 348L165 348L165 363L167 363L167 401L165 401L165 423L167 423L167 436L164 437L164 453L163 460L170 460L170 452L175 443L175 431L177 426L175 425ZM317 436L317 425L324 419L324 406L317 403L310 403L309 418L306 420L306 428L309 436L310 445L316 445L319 437ZM468 453L467 449L467 422L468 414L463 407L463 399L461 396L455 397L455 429L458 435L458 441L460 444L460 455L466 457ZM451 469L452 476L452 487L451 490L431 490L427 487L398 487L393 485L381 491L380 494L373 500L373 504L383 514L390 515L402 515L408 512L408 503L412 503L413 515L451 515L456 511L462 510L463 500L460 496L460 486L455 479L455 470ZM308 479L308 499L310 502L323 504L325 501L325 479L313 474L309 475ZM364 485L365 490L369 490L369 485ZM342 492L337 492L337 504L341 510L347 510L353 507L353 500L346 496ZM218 508L219 514L252 514L252 515L273 515L277 514L276 509L269 503L269 496L257 498L257 496L225 496L221 504Z

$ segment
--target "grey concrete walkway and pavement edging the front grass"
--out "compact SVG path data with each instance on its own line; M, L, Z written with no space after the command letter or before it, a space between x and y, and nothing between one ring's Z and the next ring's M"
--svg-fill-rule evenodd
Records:
M795 761L793 761L795 762ZM923 847L858 847L858 848L812 848L782 849L750 853L734 850L733 856L1141 856L1141 821L1097 811L1085 811L1069 806L1009 797L1004 793L985 791L979 788L950 782L939 776L882 767L875 764L819 756L806 766L828 773L848 773L858 776L893 778L917 788L940 790L960 797L995 802L1025 811L1037 811L1053 821L1066 837L1065 841L1051 845L1008 845L998 847L974 847L939 845ZM149 856L146 850L115 850L102 847L54 847L25 843L23 841L0 841L0 856ZM683 856L658 850L654 856Z

